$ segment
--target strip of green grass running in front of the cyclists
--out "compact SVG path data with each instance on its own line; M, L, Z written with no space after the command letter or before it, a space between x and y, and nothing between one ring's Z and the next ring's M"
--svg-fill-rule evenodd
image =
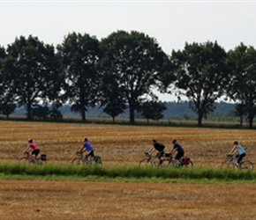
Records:
M0 178L12 180L131 180L252 182L256 172L214 168L0 164Z

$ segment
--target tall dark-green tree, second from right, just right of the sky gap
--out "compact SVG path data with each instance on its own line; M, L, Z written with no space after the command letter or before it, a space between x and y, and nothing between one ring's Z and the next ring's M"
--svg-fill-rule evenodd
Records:
M222 97L227 84L226 52L217 42L186 42L184 50L173 50L170 59L177 78L178 96L189 99L201 126L203 117L214 111L215 100Z

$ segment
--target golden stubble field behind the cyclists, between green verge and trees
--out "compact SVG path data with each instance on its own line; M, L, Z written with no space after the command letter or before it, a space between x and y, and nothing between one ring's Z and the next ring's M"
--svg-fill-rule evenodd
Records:
M137 165L143 152L151 147L152 139L164 143L169 151L171 139L177 138L194 165L218 166L234 140L245 147L246 158L255 162L255 133L248 129L0 121L0 158L21 157L27 139L33 138L41 153L48 155L49 163L71 163L87 137L104 165Z

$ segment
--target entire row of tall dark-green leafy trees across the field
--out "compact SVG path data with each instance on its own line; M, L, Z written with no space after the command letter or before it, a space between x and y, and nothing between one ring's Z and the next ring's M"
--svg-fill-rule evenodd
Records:
M45 44L29 35L0 46L0 114L25 106L32 120L50 104L47 114L70 104L86 121L88 107L101 106L113 121L129 109L158 120L166 109L154 91L186 97L198 125L223 96L237 103L237 114L252 128L256 112L256 51L240 43L225 51L217 41L185 42L184 49L163 52L145 33L117 31L98 40L88 33L68 33L62 43Z

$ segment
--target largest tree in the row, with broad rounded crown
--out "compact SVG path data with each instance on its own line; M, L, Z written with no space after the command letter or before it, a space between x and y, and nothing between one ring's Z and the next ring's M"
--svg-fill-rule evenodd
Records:
M135 31L111 33L102 39L101 48L102 76L111 77L118 84L129 106L130 123L134 123L135 110L159 82L167 55L156 40Z

